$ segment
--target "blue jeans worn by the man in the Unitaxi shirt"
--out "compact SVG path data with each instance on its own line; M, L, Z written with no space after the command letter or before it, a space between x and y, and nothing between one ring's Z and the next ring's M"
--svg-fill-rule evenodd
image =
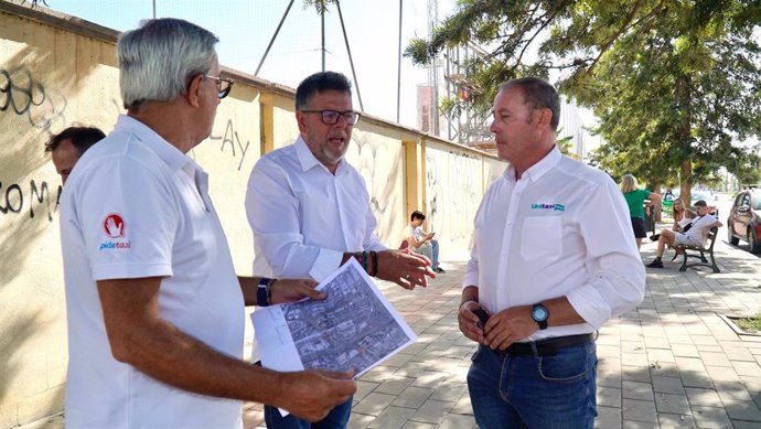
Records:
M468 390L481 429L571 429L594 426L594 343L565 347L554 356L501 356L479 346Z

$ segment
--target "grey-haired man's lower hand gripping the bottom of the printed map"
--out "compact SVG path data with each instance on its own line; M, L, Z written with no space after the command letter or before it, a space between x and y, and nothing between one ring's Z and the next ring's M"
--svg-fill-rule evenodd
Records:
M279 374L282 400L274 404L309 421L322 420L356 392L353 372L299 371Z

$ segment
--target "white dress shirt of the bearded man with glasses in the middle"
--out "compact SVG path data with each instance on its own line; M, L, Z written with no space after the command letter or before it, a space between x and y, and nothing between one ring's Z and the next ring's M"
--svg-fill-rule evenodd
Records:
M321 281L345 251L386 249L360 173L341 160L333 175L301 137L254 165L246 214L256 276Z

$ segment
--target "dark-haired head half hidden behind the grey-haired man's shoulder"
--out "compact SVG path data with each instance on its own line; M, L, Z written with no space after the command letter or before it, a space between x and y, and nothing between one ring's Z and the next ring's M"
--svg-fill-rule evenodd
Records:
M68 127L53 136L45 143L45 153L51 153L55 171L61 174L61 182L66 184L74 164L90 146L103 140L106 135L95 127Z

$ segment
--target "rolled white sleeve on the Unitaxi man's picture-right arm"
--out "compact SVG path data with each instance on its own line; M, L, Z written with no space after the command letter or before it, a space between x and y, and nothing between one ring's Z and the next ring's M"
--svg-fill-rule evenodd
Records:
M610 318L635 308L644 298L645 269L632 238L626 204L611 180L590 192L579 213L590 272L568 301L587 323L599 329Z

